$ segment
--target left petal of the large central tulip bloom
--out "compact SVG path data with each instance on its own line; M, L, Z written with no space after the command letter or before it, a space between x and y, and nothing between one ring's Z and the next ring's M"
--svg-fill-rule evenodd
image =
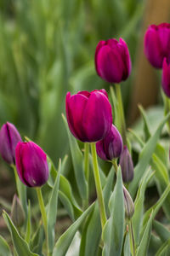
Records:
M66 95L66 117L69 128L74 137L86 141L86 135L82 127L82 116L88 98L82 94L71 96L70 92Z

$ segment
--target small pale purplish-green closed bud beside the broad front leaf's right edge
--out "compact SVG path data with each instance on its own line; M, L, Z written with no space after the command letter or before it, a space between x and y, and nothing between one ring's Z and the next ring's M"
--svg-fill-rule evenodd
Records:
M124 206L126 218L130 219L134 213L134 203L127 189L123 186Z

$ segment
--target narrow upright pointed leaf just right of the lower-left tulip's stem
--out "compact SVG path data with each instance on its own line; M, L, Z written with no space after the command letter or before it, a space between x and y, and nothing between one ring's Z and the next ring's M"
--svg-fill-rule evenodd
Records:
M59 194L59 178L61 173L61 160L59 160L59 172L52 189L49 204L48 204L48 248L49 253L53 252L54 248L54 226L57 218L57 207L58 207L58 194Z

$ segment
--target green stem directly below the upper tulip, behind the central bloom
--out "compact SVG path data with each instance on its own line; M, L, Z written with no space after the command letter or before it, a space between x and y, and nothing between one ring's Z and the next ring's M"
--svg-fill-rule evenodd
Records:
M123 105L122 105L122 92L121 92L121 85L115 84L116 86L116 97L119 104L119 114L121 118L121 134L122 134L122 141L124 145L127 145L127 134L126 134L126 123L125 123L125 117L124 117L124 111L123 111Z

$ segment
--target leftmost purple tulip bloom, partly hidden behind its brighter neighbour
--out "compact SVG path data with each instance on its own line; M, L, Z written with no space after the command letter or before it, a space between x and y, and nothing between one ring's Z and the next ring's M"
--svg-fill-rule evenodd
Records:
M0 131L0 154L9 165L15 163L15 147L21 142L19 131L10 123L2 126Z

